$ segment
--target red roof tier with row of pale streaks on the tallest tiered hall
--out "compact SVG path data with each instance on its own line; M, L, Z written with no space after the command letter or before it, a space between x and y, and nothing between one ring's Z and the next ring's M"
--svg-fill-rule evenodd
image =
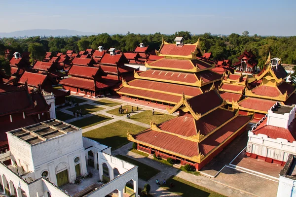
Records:
M185 82L185 83L197 82L197 78L194 73L149 69L145 72L141 72L139 75L142 77L150 77L150 78L170 80L170 81L179 81L179 82Z

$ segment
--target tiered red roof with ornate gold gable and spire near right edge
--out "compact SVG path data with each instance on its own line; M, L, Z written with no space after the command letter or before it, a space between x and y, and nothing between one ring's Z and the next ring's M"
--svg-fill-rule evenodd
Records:
M282 103L288 101L289 104L296 104L296 100L289 99L290 97L295 98L295 87L287 83L283 78L280 78L279 76L285 77L285 74L278 71L281 74L277 75L274 71L275 69L275 67L269 65L255 75L259 85L250 90L246 88L245 95L247 98L239 102L234 101L232 107L266 114L268 109L277 101ZM253 103L255 101L258 103Z

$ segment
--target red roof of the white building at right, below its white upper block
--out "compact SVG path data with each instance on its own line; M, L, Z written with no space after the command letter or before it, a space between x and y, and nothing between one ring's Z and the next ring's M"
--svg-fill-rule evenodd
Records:
M291 143L296 141L296 119L293 120L293 122L289 125L288 129L266 125L266 123L267 118L263 120L263 122L260 123L255 130L253 130L253 133L256 135L264 134L272 139L287 139Z

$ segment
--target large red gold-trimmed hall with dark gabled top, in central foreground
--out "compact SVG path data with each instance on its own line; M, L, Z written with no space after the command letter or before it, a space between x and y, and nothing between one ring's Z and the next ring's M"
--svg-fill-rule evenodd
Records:
M128 133L128 139L137 143L138 150L200 170L253 119L225 109L226 104L214 88L190 99L183 95L167 108L171 114L179 111L180 116L159 125L151 122L145 131Z

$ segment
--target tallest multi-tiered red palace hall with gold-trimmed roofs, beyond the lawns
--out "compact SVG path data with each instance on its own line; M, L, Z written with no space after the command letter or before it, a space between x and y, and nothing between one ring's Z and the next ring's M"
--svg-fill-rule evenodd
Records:
M123 81L117 90L121 96L152 100L165 104L177 104L183 93L191 98L209 90L214 82L220 84L222 75L211 71L214 65L196 58L203 56L199 40L184 44L183 37L176 38L176 44L162 40L156 52L162 57L145 66L147 71L134 72L135 80Z

